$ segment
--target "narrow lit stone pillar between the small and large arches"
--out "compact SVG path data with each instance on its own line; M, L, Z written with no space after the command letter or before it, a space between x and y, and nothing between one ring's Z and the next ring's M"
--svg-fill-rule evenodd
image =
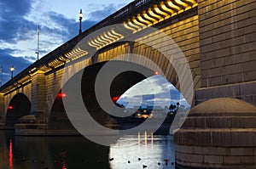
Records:
M32 112L46 113L46 86L44 72L32 75ZM45 116L45 115L44 115Z

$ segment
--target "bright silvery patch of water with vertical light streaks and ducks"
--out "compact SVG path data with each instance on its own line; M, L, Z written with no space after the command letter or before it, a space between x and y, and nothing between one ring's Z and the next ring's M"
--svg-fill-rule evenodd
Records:
M119 138L111 145L109 152L110 166L123 168L175 168L174 147L171 136L154 136L144 132L137 136Z

